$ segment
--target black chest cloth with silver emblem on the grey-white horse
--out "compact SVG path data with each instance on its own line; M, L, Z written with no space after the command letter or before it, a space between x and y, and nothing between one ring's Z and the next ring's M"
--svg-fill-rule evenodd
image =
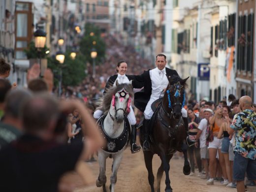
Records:
M110 154L119 153L120 151L125 149L128 144L129 130L130 130L129 121L127 117L125 117L125 120L124 120L125 128L122 134L119 137L110 138L103 128L103 122L105 118L106 118L106 115L101 116L96 123L99 128L100 134L103 135L103 138L106 140L106 143L107 143L106 146L102 147L101 149L106 153L110 153Z

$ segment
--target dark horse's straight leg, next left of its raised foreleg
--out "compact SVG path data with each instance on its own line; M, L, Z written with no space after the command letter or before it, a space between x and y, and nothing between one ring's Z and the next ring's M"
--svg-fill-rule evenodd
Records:
M159 155L160 155L160 159L162 161L163 170L165 172L165 185L166 185L165 192L172 192L172 188L170 185L171 182L170 182L170 178L169 178L170 165L169 165L169 162L167 162L167 160L166 160L165 151L164 151L163 147L161 146L161 144L160 144L159 148L160 148Z

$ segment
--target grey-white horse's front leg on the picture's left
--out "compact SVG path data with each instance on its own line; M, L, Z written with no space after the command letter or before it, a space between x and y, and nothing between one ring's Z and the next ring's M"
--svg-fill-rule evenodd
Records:
M106 192L106 159L108 154L104 153L103 151L98 152L98 164L99 164L99 175L96 180L96 186L101 187L103 192Z

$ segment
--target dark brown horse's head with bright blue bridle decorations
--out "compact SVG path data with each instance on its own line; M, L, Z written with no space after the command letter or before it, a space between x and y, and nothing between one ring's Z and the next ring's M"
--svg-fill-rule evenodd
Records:
M171 108L173 117L180 119L181 109L185 105L185 87L187 86L186 79L181 79L179 76L174 75L172 78L168 77L169 85L166 89L168 96L168 107Z

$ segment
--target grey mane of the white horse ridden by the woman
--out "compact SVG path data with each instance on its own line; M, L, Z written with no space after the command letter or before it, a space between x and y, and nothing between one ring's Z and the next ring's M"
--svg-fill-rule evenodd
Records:
M122 83L116 87L113 86L113 87L110 87L109 89L106 89L106 93L105 93L105 95L103 97L103 101L102 101L102 109L103 109L104 114L106 114L109 111L112 96L115 95L118 91L120 91L122 89L125 89L126 92L128 92L129 96L133 97L131 84Z

